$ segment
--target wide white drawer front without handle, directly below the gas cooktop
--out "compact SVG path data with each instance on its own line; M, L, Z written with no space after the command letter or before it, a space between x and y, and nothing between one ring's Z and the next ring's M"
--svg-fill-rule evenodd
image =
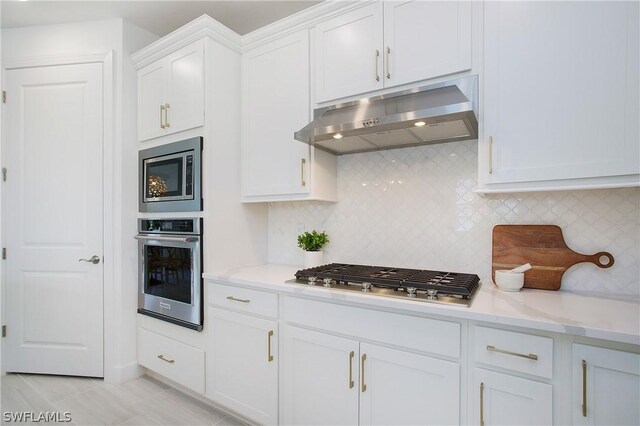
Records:
M460 324L286 297L283 318L329 332L423 352L460 357Z

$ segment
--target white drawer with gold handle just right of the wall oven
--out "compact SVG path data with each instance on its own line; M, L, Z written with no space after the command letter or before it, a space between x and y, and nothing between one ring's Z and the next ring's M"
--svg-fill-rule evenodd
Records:
M266 291L213 283L209 304L234 311L278 317L278 295Z

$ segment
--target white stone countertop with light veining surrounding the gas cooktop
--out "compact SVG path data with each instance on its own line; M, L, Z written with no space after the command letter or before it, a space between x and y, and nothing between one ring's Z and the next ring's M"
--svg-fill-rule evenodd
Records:
M222 274L204 273L203 277L205 280L242 284L326 301L494 322L640 345L640 301L637 299L617 300L565 291L530 289L504 292L488 282L482 284L471 307L466 308L285 283L294 278L299 269L302 268L267 264Z

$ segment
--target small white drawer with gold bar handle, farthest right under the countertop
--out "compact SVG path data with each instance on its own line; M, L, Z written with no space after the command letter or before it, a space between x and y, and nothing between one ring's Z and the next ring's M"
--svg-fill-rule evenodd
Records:
M474 336L476 362L552 378L552 338L481 326L474 327Z

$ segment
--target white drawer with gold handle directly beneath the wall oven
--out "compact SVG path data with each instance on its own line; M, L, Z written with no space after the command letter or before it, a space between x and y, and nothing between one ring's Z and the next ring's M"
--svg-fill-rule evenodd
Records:
M204 351L200 349L139 328L138 363L204 394Z

